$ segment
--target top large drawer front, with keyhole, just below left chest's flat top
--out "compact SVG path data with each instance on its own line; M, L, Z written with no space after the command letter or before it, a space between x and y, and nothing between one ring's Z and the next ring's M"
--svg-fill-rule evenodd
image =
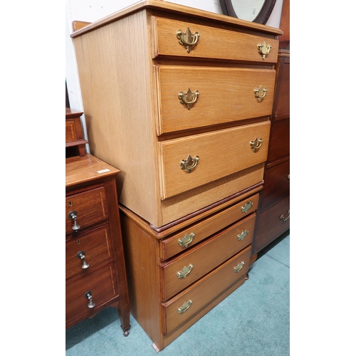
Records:
M74 220L68 218L70 211L77 212L77 224L80 226L78 232L108 219L108 204L104 187L66 197L66 234L74 232L72 229Z

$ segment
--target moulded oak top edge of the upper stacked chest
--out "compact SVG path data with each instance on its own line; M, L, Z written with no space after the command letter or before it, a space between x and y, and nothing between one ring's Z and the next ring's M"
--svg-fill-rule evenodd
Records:
M175 13L175 14L182 14L185 16L187 16L187 14L188 14L189 16L195 16L200 19L208 19L208 20L219 21L221 23L237 25L240 28L262 31L263 33L270 33L275 36L281 36L283 34L283 31L281 31L279 28L273 28L270 26L261 25L261 23L254 23L251 21L236 19L231 16L215 14L213 12L204 11L204 10L200 10L200 9L194 9L194 8L188 7L188 6L172 4L168 1L145 0L145 1L139 1L138 3L135 3L132 6L127 6L125 9L117 11L109 16L105 16L105 17L103 17L103 19L100 19L98 21L90 23L90 24L88 24L88 26L80 28L80 29L78 29L78 31L74 31L70 35L70 37L75 38L75 37L81 36L84 33L93 31L96 28L105 26L106 24L108 24L110 22L117 21L118 19L121 19L121 18L123 18L127 15L130 15L130 14L133 14L137 11L141 11L142 9L163 10L163 11L169 11L169 12Z

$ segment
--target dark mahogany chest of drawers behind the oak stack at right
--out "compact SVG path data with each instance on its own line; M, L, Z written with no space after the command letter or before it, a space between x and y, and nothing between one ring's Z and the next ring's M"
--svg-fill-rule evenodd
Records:
M258 209L253 255L261 251L290 226L289 199L289 73L290 51L278 53L275 103L271 120L271 138Z

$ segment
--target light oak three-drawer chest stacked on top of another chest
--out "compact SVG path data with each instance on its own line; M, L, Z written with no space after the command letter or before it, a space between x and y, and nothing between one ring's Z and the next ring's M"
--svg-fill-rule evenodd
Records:
M263 180L282 32L140 1L71 36L90 150L164 226Z

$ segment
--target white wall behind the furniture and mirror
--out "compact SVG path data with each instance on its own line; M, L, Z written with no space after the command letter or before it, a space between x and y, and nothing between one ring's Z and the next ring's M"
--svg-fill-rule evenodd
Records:
M72 38L70 38L70 33L73 32L72 22L75 20L94 22L137 2L140 1L66 0L66 81L70 108L84 111L83 103L81 100L77 64L75 61L75 52ZM216 14L222 14L219 0L172 0L169 2L189 7L193 7L193 3L196 9L211 11ZM266 23L267 26L276 28L279 27L279 23L281 21L282 5L283 0L276 0L272 14ZM85 113L82 117L82 124L84 129L84 136L88 140L85 126ZM87 150L89 152L88 145Z

